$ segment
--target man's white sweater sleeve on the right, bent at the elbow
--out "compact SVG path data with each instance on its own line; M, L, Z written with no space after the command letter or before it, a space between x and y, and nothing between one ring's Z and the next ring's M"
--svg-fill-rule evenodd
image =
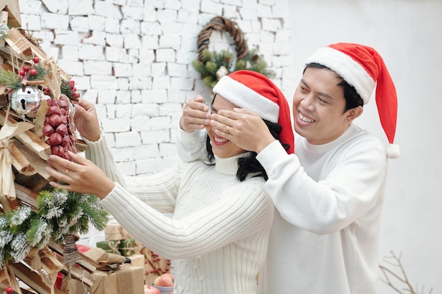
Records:
M324 162L321 172L326 176L319 181L276 141L257 159L268 173L265 189L281 216L318 234L340 231L366 214L379 200L386 177L385 152L370 142Z

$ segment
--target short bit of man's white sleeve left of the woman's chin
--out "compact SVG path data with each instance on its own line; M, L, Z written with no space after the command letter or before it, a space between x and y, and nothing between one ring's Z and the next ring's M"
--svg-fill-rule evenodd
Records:
M205 152L205 130L196 130L186 133L178 127L177 151L184 162L203 160L207 157Z

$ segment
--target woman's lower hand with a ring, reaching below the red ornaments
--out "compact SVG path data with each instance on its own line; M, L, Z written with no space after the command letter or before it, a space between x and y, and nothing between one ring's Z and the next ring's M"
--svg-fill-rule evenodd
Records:
M50 155L46 167L47 173L65 185L49 182L54 188L63 188L71 192L92 194L103 199L114 189L115 183L92 163L79 154L69 152L72 161L56 155Z

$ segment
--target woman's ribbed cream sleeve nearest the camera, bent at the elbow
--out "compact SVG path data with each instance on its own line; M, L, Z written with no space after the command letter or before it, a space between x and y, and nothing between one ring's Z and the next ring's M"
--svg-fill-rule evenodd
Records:
M143 245L168 259L196 257L270 227L273 204L261 185L235 185L217 201L181 219L171 219L116 185L101 201Z

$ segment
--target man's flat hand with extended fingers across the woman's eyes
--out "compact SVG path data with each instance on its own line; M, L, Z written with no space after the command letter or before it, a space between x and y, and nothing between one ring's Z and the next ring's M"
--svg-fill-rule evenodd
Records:
M259 153L275 141L263 119L247 109L220 110L210 118L210 125L217 135L244 150Z

